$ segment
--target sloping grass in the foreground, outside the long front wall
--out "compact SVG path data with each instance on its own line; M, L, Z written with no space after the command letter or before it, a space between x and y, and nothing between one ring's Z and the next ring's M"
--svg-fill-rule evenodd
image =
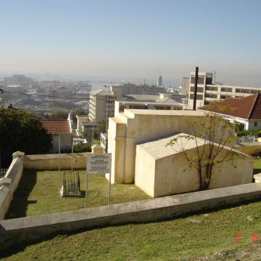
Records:
M255 168L261 168L260 159ZM236 242L238 232L241 242ZM253 233L259 236L255 243ZM6 260L261 260L260 250L258 201L173 220L62 234L6 253Z

